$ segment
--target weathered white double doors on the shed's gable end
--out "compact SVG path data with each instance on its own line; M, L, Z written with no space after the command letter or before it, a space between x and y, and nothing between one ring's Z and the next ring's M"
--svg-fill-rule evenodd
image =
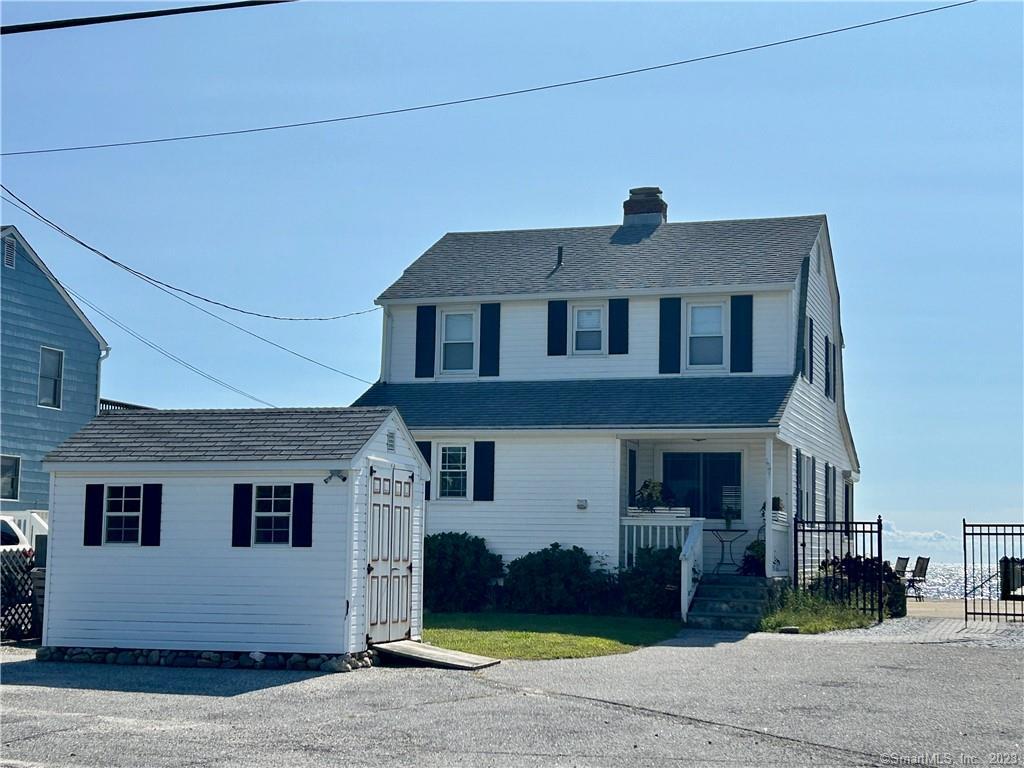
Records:
M371 464L369 512L367 640L386 643L412 627L413 473Z

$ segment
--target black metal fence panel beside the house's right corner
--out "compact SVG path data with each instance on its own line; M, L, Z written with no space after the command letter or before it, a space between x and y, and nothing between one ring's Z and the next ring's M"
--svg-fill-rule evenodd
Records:
M882 517L793 521L793 588L885 618Z

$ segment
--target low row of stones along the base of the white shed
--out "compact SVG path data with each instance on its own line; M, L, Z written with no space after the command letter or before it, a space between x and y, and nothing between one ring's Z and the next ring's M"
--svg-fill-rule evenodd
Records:
M378 664L371 648L356 653L263 653L261 651L161 650L153 648L77 648L44 645L38 662L114 664L123 667L181 667L221 670L301 670L303 672L353 672Z

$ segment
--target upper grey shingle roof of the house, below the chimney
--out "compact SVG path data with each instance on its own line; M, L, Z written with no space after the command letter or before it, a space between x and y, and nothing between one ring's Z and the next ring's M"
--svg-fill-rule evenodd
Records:
M795 282L825 217L450 232L387 299ZM557 270L558 247L564 263Z

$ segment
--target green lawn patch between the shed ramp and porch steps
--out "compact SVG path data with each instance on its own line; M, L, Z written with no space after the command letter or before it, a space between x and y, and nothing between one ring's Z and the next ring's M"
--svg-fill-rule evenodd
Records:
M671 618L541 613L427 613L423 639L493 658L587 658L675 637Z

